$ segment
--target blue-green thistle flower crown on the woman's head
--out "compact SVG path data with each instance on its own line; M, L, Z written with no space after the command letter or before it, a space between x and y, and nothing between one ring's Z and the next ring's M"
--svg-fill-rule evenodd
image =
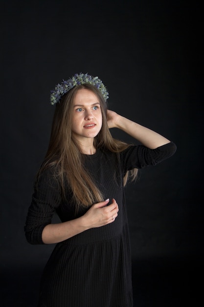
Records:
M109 98L109 93L102 83L102 81L98 77L92 77L88 74L75 74L73 77L69 78L67 81L63 80L61 84L57 84L54 90L51 91L50 102L51 104L55 104L60 102L60 99L64 94L66 94L70 89L72 89L76 85L80 84L91 84L94 85L103 95L104 99L107 100Z

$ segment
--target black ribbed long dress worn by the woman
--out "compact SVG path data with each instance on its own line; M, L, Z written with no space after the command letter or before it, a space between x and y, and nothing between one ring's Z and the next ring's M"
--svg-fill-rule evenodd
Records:
M114 198L119 206L115 221L77 234L55 245L45 266L38 307L133 307L131 251L123 188L127 170L156 165L170 157L176 145L169 143L155 150L130 146L119 154L97 150L85 155L85 167L105 199ZM51 223L54 211L62 222L75 215L71 202L63 202L58 185L46 171L34 191L25 235L31 244L43 244L42 231Z

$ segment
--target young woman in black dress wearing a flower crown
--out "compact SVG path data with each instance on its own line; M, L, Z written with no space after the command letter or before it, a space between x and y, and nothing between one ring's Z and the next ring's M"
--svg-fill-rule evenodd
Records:
M45 266L38 307L132 307L124 195L128 177L176 151L159 133L107 109L98 77L74 75L51 92L50 142L37 174L25 235L57 243ZM119 128L142 145L113 139ZM57 212L61 223L52 224Z

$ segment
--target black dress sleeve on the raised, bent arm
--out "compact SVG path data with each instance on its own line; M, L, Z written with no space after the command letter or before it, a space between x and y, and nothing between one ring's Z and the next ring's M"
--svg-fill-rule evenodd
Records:
M121 153L124 173L134 168L144 168L149 165L156 165L169 158L176 152L176 145L173 142L150 149L143 145L130 146Z

